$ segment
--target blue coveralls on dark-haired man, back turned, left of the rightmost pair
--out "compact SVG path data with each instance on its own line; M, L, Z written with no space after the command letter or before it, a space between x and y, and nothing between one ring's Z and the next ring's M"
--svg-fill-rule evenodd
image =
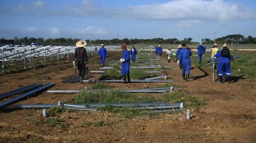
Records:
M182 74L185 74L185 69L187 74L190 74L192 52L189 49L181 49L179 54L179 60L182 62Z

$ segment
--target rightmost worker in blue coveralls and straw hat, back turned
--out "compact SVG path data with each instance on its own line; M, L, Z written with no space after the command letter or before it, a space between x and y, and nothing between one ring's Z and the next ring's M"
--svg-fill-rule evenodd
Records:
M219 58L218 64L218 76L219 82L223 83L223 71L226 72L228 77L228 83L231 83L231 65L230 65L230 51L226 43L223 44L223 49L213 56L213 58Z

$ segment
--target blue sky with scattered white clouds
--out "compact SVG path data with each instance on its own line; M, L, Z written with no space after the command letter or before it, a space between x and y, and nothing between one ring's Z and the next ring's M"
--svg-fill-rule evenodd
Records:
M0 38L256 36L256 0L0 0Z

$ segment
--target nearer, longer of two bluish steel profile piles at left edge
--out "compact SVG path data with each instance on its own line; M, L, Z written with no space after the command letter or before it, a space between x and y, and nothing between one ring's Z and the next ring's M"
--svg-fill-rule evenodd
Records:
M49 87L52 87L53 85L54 85L54 83L47 83L45 85L42 85L42 86L40 86L40 87L38 87L36 89L33 89L32 91L28 91L28 92L26 92L24 94L21 94L20 96L12 98L11 100L8 100L8 101L5 101L3 103L0 103L0 107L6 107L8 105L16 103L16 102L18 102L18 101L20 101L20 100L22 100L24 98L27 98L29 96L32 96L32 95L36 94L36 93L42 92L45 89L48 89Z

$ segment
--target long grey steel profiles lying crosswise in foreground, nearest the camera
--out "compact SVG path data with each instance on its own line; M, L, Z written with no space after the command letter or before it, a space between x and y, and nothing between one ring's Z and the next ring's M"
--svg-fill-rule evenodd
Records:
M184 108L184 103L87 103L87 104L69 104L84 107L104 107L104 106L114 106L114 107L158 107L158 106L180 106ZM15 108L51 108L56 107L58 104L16 104Z

